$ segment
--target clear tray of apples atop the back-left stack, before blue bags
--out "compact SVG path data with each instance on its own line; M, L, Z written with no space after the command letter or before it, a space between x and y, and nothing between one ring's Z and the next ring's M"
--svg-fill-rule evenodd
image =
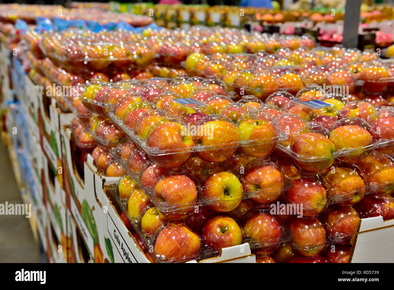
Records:
M138 43L138 37L124 33L65 32L46 35L41 50L64 67L89 67L102 70L114 68L147 67L154 60L151 48ZM130 38L127 38L127 35Z

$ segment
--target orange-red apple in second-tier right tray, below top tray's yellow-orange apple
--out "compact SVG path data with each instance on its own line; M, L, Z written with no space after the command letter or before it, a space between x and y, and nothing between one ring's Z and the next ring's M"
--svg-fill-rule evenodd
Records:
M322 182L327 188L329 198L343 206L358 203L366 191L364 180L359 173L347 167L327 169Z

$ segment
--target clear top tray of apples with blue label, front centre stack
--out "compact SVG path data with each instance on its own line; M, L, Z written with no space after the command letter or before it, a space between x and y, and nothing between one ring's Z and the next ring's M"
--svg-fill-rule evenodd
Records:
M188 81L173 84L171 88L174 87L177 90L173 89L172 93L158 95L153 100L159 109L155 109L152 104L146 102L130 102L130 97L124 97L119 99L115 107L107 113L115 124L150 156L164 156L172 153L172 156L168 156L167 159L177 156L177 162L182 163L182 159L187 156L181 154L201 152L199 154L206 155L203 157L206 161L220 162L240 147L241 151L246 152L245 154L263 157L268 156L271 149L275 147L275 143L287 138L284 132L277 129L274 118L266 112L267 108L253 108L262 105L256 98L249 97L233 102L224 95L196 90ZM183 88L186 87L188 89L190 87L192 92L185 94ZM174 95L174 91L182 93L183 96ZM186 98L186 96L191 98ZM257 122L255 125L253 125L253 120L256 120L254 123ZM261 124L264 127L260 129L264 129L266 133L260 134L260 137L257 136L258 134L253 137L253 134L247 133L245 126L248 124L257 126L258 121L262 121ZM155 130L154 135L157 132L164 132L163 130L169 127L173 127L175 132L184 135L182 136L184 145L182 143L171 146L164 143L155 145L153 138L149 138ZM211 134L211 129L218 132L217 135ZM215 154L222 156L214 156ZM163 158L158 157L158 159ZM156 162L159 163L160 160ZM165 163L162 161L161 165Z

